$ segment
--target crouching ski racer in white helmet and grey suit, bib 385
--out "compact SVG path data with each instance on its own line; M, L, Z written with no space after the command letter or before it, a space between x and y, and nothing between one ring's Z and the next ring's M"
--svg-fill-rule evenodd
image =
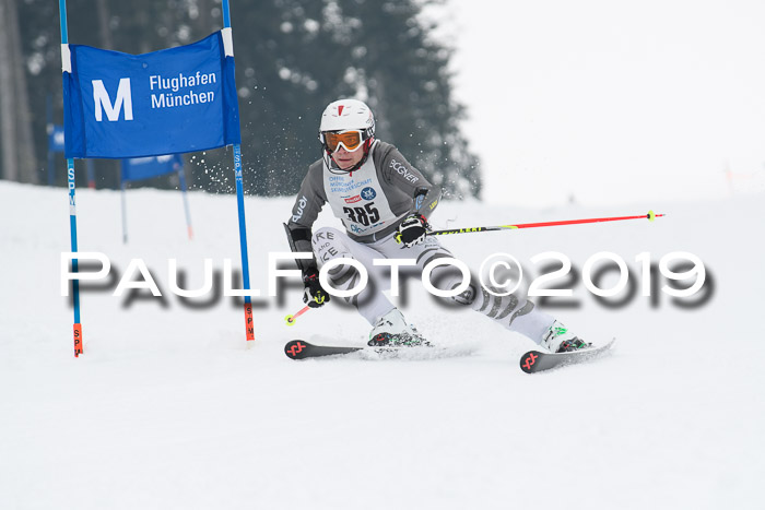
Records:
M439 258L454 258L435 236L427 236L428 217L440 199L440 189L391 144L375 139L375 118L361 100L331 103L321 116L321 159L308 167L285 224L293 251L313 252L313 259L297 260L303 272L303 300L311 308L323 306L330 296L319 282L318 264L337 258L352 258L369 273L360 294L344 298L373 325L368 345L414 346L428 342L408 324L401 311L382 294L389 281L387 270L373 265L374 259L414 259L422 269ZM329 202L345 232L313 225ZM349 264L328 272L332 287L354 288L358 273ZM432 280L443 289L462 281L454 266L438 265ZM540 311L523 296L495 296L471 283L454 301L470 306L492 320L533 340L553 353L587 347L553 317Z

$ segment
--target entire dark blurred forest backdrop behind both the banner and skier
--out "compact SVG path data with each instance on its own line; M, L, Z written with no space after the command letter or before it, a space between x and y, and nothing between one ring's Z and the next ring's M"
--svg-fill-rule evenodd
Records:
M10 0L2 0L10 1ZM378 137L396 144L448 197L481 191L476 157L459 130L448 71L451 50L428 36L421 15L429 0L231 0L242 120L245 186L250 193L297 191L320 157L323 107L341 97L372 106ZM94 9L95 7L95 9ZM201 39L222 27L221 0L69 0L69 39L130 54ZM61 122L58 9L20 5L37 161L46 158L45 96ZM229 151L187 155L195 187L232 192ZM109 166L111 165L111 166ZM116 187L110 162L99 186ZM169 179L155 186L169 187ZM61 175L59 183L63 183Z

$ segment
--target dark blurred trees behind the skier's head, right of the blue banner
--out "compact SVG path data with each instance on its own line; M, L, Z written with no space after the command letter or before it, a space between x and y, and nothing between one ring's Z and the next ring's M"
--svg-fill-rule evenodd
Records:
M323 107L356 97L375 111L378 137L447 197L479 195L478 158L459 130L463 110L451 93L451 51L428 38L420 16L424 3L273 0L260 9L232 7L239 95L255 106L243 105L242 116L259 193L296 192L305 166L319 157ZM242 55L243 46L251 50Z

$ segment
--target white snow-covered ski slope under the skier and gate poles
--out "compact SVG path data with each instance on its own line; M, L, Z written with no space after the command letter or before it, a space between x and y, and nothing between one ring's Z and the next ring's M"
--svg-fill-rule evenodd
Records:
M609 309L577 284L579 308L549 311L596 343L617 336L614 353L534 376L518 368L530 341L435 305L417 282L408 319L471 355L293 361L287 340L354 344L369 329L336 303L287 328L297 287L256 300L248 348L239 306L192 308L169 293L170 258L187 287L201 285L204 258L239 266L235 198L189 200L193 241L178 193L130 191L123 245L118 192L78 190L80 250L106 253L118 277L142 258L165 299L83 292L85 354L74 358L60 295L67 193L0 182L0 508L765 508L763 195L545 211L444 203L437 228L669 214L443 239L473 268L497 251L533 268L531 256L556 250L581 269L605 250L637 271L640 252L683 250L711 274L711 298L690 309L666 295L651 307L639 292ZM290 206L246 199L263 292L268 251L289 249ZM337 222L325 212L320 224Z

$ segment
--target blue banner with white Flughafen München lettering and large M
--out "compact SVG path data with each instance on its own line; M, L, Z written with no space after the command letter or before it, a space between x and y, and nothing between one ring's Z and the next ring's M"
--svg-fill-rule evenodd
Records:
M69 54L68 158L157 156L242 143L229 34L145 55L81 45L69 45Z

